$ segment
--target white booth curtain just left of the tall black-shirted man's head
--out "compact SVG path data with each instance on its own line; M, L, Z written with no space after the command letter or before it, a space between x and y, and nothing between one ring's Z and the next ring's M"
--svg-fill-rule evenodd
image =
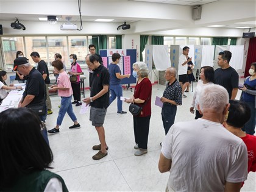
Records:
M202 66L213 66L213 59L214 59L214 45L203 45L202 46Z

